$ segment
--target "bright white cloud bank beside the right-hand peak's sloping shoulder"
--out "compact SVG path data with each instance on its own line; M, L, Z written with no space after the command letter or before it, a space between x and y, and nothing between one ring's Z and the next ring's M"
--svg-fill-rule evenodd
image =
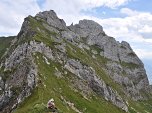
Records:
M124 18L95 19L109 35L132 42L149 42L142 33L152 33L152 14L128 9L129 16ZM128 13L128 12L127 12Z

